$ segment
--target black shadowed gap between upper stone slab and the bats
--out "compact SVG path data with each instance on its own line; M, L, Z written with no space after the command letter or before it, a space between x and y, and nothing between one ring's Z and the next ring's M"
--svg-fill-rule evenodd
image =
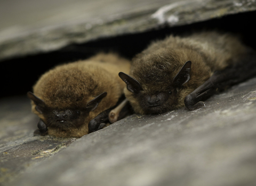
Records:
M146 48L151 40L165 38L171 33L177 35L201 29L230 31L241 34L247 45L256 48L253 28L255 15L255 11L228 15L187 26L158 28L143 33L104 38L86 44L69 45L50 53L2 61L0 97L25 95L27 91L32 90L40 75L57 64L85 59L97 52L117 52L124 57L132 58Z

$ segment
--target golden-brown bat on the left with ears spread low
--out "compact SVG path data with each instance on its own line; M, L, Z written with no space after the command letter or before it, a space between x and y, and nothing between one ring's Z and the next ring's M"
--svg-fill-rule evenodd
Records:
M82 137L103 128L108 113L123 95L125 83L118 72L128 73L130 65L115 54L98 54L43 74L33 87L34 94L27 94L32 111L40 118L39 131L57 137Z

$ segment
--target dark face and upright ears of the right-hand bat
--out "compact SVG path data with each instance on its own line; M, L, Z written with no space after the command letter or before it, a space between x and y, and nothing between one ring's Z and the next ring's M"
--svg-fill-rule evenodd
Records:
M183 84L189 81L190 69L191 61L187 61L175 77L166 80L166 82L155 82L155 79L150 80L149 78L147 83L145 81L141 81L141 83L123 72L119 72L119 77L127 85L126 88L129 92L126 91L126 97L130 100L135 112L139 114L161 114L171 111L179 104L179 90Z

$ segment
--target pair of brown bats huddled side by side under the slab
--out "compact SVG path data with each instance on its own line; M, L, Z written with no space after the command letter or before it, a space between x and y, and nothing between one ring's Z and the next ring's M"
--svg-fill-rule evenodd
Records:
M109 65L105 70L104 64ZM33 112L41 118L39 131L81 137L99 130L111 120L110 111L123 92L138 114L161 114L183 106L194 110L217 89L253 77L256 53L230 33L200 32L155 41L132 59L128 75L129 69L124 58L101 54L44 74L34 94L28 92ZM122 116L116 114L114 121Z

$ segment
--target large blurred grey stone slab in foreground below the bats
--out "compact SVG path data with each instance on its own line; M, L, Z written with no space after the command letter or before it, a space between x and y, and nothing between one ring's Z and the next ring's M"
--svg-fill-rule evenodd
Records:
M205 104L129 116L4 185L255 185L256 78Z

